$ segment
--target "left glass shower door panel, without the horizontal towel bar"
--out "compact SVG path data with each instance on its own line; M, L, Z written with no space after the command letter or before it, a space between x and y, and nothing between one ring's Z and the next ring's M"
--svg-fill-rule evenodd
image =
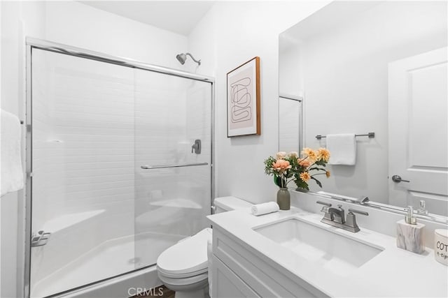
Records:
M31 78L30 289L46 297L134 270L134 70L34 49Z

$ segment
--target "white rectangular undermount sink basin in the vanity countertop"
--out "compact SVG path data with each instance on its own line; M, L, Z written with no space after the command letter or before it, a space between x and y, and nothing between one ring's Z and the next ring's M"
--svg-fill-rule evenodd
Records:
M383 251L297 218L253 230L339 276L351 274Z

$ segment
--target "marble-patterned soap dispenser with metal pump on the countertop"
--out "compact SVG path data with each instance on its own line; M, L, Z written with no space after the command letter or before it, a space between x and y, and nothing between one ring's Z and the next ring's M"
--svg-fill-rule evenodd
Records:
M397 222L397 247L412 251L412 253L423 253L423 228L425 225L417 223L414 209L408 206L405 219Z

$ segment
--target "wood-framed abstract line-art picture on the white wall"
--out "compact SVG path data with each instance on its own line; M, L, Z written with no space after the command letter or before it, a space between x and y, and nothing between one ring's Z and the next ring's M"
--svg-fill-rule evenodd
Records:
M227 73L227 136L260 134L260 57L254 57Z

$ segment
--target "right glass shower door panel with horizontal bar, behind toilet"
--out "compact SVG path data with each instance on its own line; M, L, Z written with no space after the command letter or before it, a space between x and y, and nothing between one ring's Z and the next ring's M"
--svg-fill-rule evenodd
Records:
M135 265L207 227L211 83L135 73Z

